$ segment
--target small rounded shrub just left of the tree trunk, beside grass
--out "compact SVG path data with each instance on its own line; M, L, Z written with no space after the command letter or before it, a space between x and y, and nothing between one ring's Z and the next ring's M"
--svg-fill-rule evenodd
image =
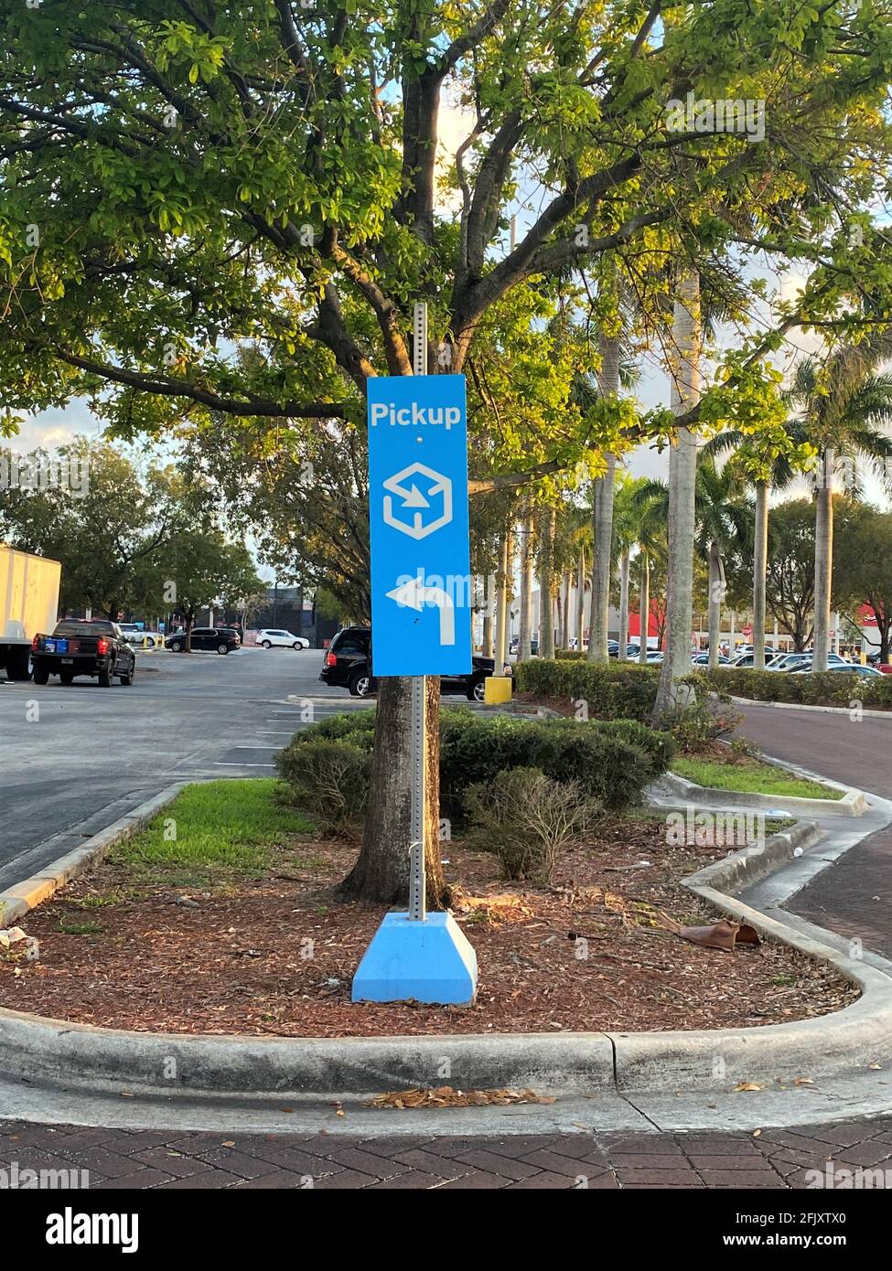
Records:
M276 768L291 802L323 834L344 834L364 813L372 756L358 746L327 738L293 744L276 755Z

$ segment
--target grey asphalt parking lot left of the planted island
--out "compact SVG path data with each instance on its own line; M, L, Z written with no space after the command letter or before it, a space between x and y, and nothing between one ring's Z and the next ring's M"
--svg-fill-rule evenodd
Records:
M137 653L132 688L0 683L0 888L172 782L272 775L307 716L358 704L321 669L321 649L244 648Z

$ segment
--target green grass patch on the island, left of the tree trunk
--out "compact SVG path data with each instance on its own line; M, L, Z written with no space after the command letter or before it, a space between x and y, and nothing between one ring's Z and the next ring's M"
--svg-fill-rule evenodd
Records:
M135 868L163 869L169 882L200 886L207 872L263 869L276 848L312 829L294 808L275 799L274 778L188 785L113 859Z

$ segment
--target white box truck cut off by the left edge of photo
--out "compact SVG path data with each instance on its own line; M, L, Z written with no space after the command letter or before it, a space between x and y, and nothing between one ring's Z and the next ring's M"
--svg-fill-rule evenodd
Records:
M61 572L59 561L0 543L0 671L10 680L29 677L31 642L56 625Z

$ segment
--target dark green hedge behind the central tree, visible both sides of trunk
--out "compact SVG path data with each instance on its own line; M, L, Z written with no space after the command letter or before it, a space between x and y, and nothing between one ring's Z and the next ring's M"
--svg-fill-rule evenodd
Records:
M368 755L373 737L374 710L331 716L296 732L276 763L286 780L293 773L303 777L299 756L307 745L355 746ZM538 768L557 782L579 782L587 797L618 811L638 802L672 754L668 735L635 719L513 719L447 709L440 713L440 803L458 821L468 785L505 769Z

